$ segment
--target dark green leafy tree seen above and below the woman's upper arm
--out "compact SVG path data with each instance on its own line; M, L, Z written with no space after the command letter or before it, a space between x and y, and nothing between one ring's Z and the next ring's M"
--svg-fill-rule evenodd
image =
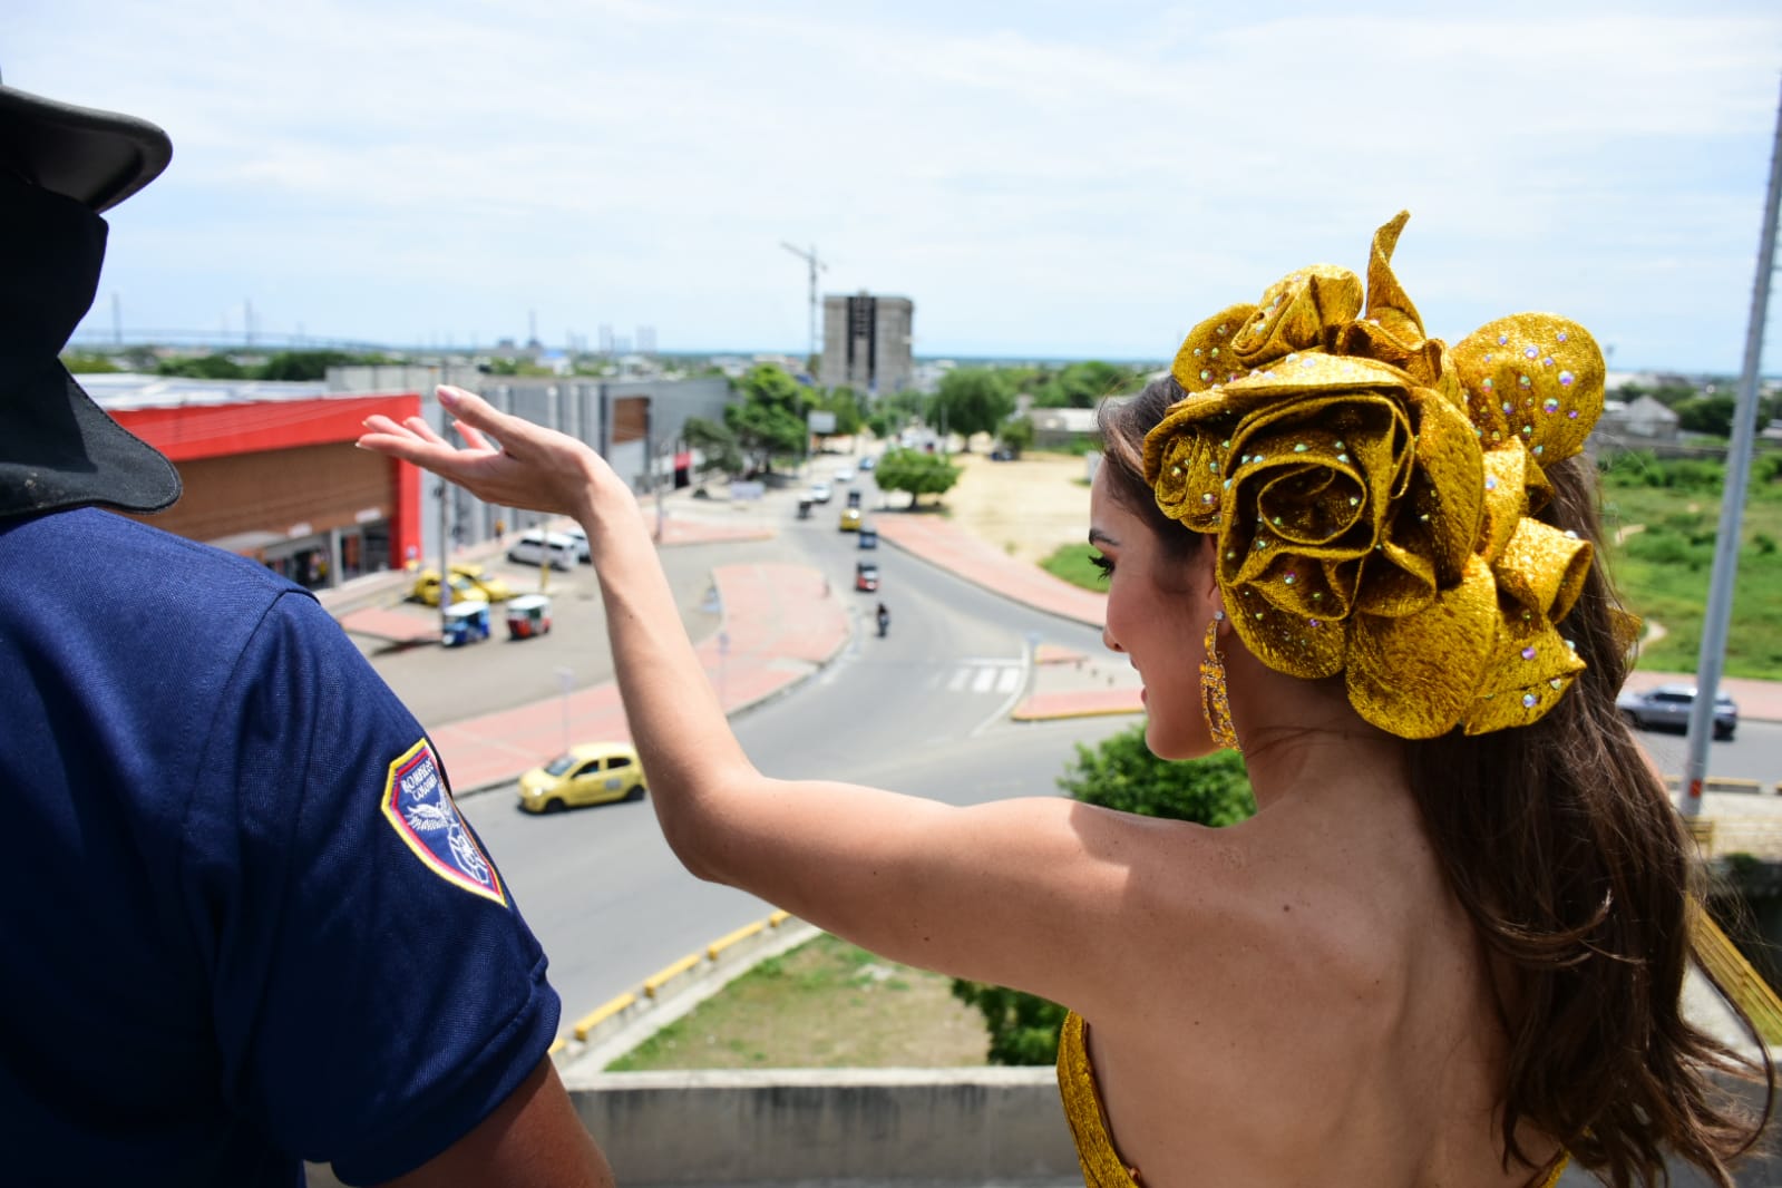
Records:
M1099 805L1148 818L1235 825L1256 812L1256 798L1235 752L1173 762L1144 745L1144 725L1101 741L1076 745L1059 787L1085 805ZM1064 1006L1021 990L953 980L953 997L984 1013L991 1031L989 1062L1000 1065L1050 1065L1059 1058Z

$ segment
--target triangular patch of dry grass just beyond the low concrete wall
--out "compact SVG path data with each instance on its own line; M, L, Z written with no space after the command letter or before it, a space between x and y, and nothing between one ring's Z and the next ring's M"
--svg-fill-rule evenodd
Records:
M952 978L827 933L773 956L608 1072L650 1069L948 1069L982 1065L984 1017Z

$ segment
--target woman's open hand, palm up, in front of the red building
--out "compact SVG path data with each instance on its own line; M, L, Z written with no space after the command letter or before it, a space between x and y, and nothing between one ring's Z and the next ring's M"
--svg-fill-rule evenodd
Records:
M483 502L577 520L590 517L597 488L624 490L611 467L583 442L499 413L463 388L442 385L437 392L453 413L463 447L442 438L421 417L397 424L383 415L365 419L358 447L424 467Z

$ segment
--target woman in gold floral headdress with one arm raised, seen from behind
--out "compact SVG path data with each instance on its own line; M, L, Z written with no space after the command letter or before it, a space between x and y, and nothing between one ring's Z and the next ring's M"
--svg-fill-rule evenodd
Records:
M1244 752L1258 812L1224 830L768 778L586 445L451 388L465 449L385 419L362 443L586 527L690 871L1073 1008L1091 1186L1509 1188L1568 1160L1622 1184L1666 1151L1730 1184L1755 1124L1680 1012L1688 841L1614 714L1634 623L1577 458L1602 354L1550 315L1427 338L1390 267L1404 219L1365 289L1283 278L1103 408L1105 641L1157 755Z

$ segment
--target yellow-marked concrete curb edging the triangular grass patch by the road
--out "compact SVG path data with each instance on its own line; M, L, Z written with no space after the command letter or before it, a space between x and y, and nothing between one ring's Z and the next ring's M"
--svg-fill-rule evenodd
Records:
M789 912L773 912L729 932L661 967L636 990L618 994L577 1019L570 1033L551 1046L551 1056L563 1072L583 1065L601 1072L766 958L795 949L820 932Z

